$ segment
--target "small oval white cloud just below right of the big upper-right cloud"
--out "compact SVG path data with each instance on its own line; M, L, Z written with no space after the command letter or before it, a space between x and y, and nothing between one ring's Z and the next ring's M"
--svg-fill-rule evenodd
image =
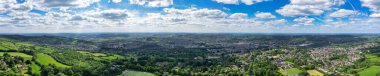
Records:
M335 12L329 14L329 16L330 17L348 17L348 16L353 15L355 13L357 13L357 11L339 9L338 11L335 11Z

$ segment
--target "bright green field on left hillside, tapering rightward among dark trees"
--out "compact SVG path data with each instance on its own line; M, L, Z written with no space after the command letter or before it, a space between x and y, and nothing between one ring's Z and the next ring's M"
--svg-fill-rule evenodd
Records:
M53 65L55 65L57 67L61 67L61 68L70 68L71 67L71 66L59 63L55 59L53 59L51 56L43 54L43 53L37 54L36 61L42 65L53 64Z

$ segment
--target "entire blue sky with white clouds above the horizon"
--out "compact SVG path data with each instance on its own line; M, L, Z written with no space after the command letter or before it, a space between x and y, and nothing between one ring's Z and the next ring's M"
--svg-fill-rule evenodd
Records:
M380 33L380 0L0 0L0 33Z

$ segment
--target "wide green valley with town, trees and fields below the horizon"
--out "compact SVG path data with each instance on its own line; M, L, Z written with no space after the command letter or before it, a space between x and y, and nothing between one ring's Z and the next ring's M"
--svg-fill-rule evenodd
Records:
M26 34L0 42L1 75L380 75L380 35Z

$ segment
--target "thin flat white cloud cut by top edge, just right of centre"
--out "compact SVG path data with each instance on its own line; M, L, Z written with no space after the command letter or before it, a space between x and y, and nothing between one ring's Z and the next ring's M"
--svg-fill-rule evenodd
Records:
M252 5L259 2L270 1L270 0L214 0L218 3L224 4L239 4L244 3L245 5Z

